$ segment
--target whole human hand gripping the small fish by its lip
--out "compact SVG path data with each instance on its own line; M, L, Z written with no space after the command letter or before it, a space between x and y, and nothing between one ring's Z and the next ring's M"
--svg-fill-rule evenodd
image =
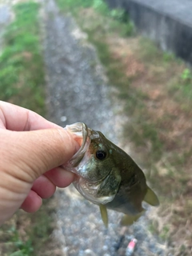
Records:
M78 143L62 127L0 101L0 224L20 207L38 210L56 186L69 186L74 174L58 166L77 150Z

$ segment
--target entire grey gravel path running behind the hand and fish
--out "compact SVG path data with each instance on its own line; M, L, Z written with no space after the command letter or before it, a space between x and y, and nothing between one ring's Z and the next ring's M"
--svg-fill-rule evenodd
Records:
M43 6L48 118L61 126L86 122L117 143L121 125L114 113L118 104L110 100L110 86L106 85L94 47L86 41L86 34L78 29L73 18L59 13L53 0L43 1ZM58 190L56 198L55 238L61 242L63 255L125 255L133 236L138 239L134 255L168 255L166 246L148 231L146 216L127 228L117 251L122 214L109 211L110 225L106 230L98 206L82 198L73 186Z

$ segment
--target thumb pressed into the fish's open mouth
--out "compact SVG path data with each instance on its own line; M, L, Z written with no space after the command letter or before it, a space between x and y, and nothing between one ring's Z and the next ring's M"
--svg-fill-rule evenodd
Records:
M47 170L69 161L78 150L78 143L64 129L2 130L0 141L0 155L5 163L2 167L9 166L4 171L30 183Z

